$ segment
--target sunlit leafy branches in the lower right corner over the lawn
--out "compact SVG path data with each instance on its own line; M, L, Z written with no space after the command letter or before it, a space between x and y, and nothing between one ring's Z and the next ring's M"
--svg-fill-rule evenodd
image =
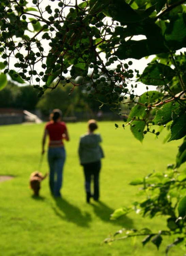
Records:
M144 237L142 244L152 242L157 249L162 243L163 236L172 235L175 241L168 245L166 254L170 248L176 244L185 242L186 234L186 171L180 173L176 169L168 167L164 173L150 173L143 180L134 180L131 185L142 185L146 199L142 202L134 202L128 208L115 210L111 215L111 219L116 219L131 211L141 214L143 217L149 216L154 218L157 215L165 215L167 217L167 230L160 230L154 233L148 228L142 230L122 229L117 231L113 236L105 239L105 243L115 240L126 239L134 236ZM116 235L120 235L118 238Z

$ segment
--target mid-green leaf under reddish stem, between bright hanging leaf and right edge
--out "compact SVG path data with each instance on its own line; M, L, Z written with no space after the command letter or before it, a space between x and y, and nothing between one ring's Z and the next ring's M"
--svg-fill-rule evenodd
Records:
M156 111L155 118L153 122L155 125L158 123L164 125L167 124L172 120L172 111L176 112L177 114L180 113L180 104L177 102L168 102L162 106L162 108Z

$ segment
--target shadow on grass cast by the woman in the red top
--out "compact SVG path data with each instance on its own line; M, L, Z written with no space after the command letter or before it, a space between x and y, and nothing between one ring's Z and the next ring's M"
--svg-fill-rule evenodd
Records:
M69 203L62 198L54 198L57 208L53 207L56 215L68 222L73 222L81 227L89 227L92 221L91 215L88 212L82 213L78 207Z

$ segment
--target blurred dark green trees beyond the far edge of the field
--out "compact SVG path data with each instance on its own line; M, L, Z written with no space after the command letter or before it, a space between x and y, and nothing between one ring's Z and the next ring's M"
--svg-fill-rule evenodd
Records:
M21 110L40 110L43 116L48 116L52 109L59 108L64 115L96 114L100 102L90 101L87 90L81 86L72 93L72 84L60 84L55 90L46 91L42 98L37 97L37 90L31 85L18 86L9 81L0 90L0 108L16 108ZM108 112L107 106L102 107L102 112Z

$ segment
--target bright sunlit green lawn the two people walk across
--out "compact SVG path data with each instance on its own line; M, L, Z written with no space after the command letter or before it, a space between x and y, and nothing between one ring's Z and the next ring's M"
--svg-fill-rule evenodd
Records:
M120 124L121 126L121 124ZM153 170L164 171L175 161L180 142L162 144L147 135L143 144L128 129L115 129L113 122L100 122L105 159L100 176L100 202L87 204L82 167L77 157L79 136L86 132L85 123L67 124L71 141L65 143L67 161L64 167L63 200L50 196L44 180L41 198L34 199L29 176L37 170L41 154L44 124L1 126L0 175L15 179L0 183L0 251L3 256L129 256L165 255L150 243L144 248L140 239L101 245L102 241L122 227L149 226L159 230L164 219L150 220L137 215L110 221L114 209L137 200L137 187L129 182ZM164 133L165 135L165 133ZM48 172L46 156L42 165ZM169 242L172 242L170 239ZM165 244L164 244L165 245ZM179 247L170 256L183 255Z

